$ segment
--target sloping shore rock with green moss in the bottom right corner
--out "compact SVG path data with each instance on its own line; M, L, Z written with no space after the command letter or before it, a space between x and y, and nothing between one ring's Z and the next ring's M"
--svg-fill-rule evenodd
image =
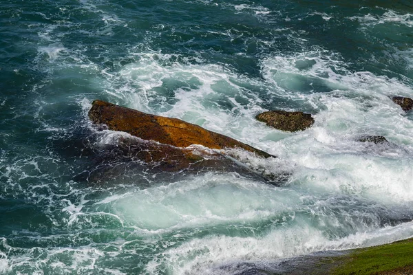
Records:
M314 252L273 262L223 265L222 270L254 275L412 275L413 238L354 250Z

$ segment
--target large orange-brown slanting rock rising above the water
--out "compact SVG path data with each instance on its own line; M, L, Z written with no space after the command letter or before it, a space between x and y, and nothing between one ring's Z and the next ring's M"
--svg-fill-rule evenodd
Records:
M262 157L272 157L264 151L201 126L177 118L142 113L102 100L94 100L89 118L96 124L106 124L110 130L124 131L143 140L154 140L171 146L200 144L213 149L242 148Z

